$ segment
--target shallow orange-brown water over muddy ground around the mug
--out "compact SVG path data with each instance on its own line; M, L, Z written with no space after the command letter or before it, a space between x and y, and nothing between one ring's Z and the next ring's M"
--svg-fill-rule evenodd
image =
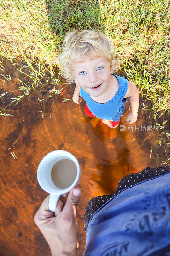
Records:
M9 86L10 83L4 87L1 83L0 89L9 90ZM12 83L11 87L15 90L17 83ZM73 90L71 86L65 87L63 97L71 99ZM19 110L13 111L14 116L1 116L0 120L0 255L50 255L48 244L33 217L47 196L37 182L38 164L56 149L72 153L82 169L79 184L82 196L77 208L79 252L82 255L85 248L84 211L92 198L87 189L89 178L113 192L123 177L124 164L131 164L139 172L147 166L155 166L155 159L150 156L150 148L141 143L144 131L128 131L129 124L125 119L129 102L120 123L126 126L126 131L118 129L116 139L110 138L110 128L105 124L99 122L95 129L92 127L91 118L83 111L83 101L77 105L72 100L63 102L56 98L52 100L50 110L55 114L47 111L42 119L38 117L36 104L27 101ZM144 111L140 110L135 125L148 124ZM146 132L152 137L153 131ZM14 148L8 150L14 142Z

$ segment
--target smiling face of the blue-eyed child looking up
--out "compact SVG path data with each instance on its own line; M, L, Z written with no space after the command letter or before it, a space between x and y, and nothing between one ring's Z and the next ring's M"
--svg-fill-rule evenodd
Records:
M94 97L101 96L110 83L110 63L105 56L73 63L76 84Z

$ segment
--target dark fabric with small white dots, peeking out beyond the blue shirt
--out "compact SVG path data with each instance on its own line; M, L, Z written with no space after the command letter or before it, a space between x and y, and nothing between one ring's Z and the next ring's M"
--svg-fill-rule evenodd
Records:
M119 192L124 190L125 188L131 187L141 181L152 179L156 176L165 174L169 171L169 166L161 166L161 167L147 167L141 172L132 173L121 180L119 180L118 186L115 189L113 194L106 195L106 196L97 196L92 198L85 208L85 215L84 215L84 222L85 222L85 232L87 231L87 226L92 215L99 210L99 208L105 204L109 199L117 195Z

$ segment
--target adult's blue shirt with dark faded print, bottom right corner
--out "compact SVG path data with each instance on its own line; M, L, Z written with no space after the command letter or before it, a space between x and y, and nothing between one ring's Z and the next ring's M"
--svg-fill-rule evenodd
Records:
M154 171L153 178L125 187L93 214L83 256L170 255L170 167L161 175Z

